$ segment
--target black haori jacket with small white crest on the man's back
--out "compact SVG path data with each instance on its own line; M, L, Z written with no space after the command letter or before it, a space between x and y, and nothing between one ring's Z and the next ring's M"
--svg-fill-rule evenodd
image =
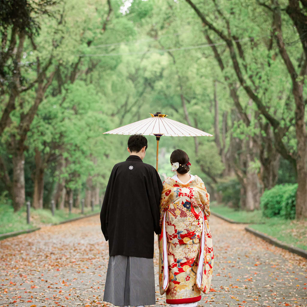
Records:
M138 156L115 164L100 212L110 256L153 258L162 187L157 171Z

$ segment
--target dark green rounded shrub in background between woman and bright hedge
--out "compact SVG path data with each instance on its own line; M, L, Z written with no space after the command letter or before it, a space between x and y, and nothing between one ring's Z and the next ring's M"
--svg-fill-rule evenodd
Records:
M224 204L231 202L235 210L240 208L241 185L236 178L224 178L216 184L216 190L222 194Z

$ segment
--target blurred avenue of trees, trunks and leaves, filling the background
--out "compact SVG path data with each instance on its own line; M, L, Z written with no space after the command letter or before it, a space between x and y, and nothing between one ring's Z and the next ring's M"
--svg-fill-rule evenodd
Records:
M268 210L307 216L304 1L18 3L0 7L0 193L15 211L98 204L128 155L127 136L102 133L160 111L214 134L162 137L160 173L181 148L212 200L267 210L285 186Z

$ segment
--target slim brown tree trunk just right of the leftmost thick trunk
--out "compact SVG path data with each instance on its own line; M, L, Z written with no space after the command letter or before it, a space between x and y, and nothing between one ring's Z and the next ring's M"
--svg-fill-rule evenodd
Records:
M41 159L41 152L38 148L35 148L35 165L33 207L35 209L42 209L44 196L44 167Z

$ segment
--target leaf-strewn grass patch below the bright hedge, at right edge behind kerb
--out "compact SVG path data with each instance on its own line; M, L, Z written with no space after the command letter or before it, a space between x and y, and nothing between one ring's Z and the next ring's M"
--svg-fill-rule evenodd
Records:
M250 225L279 241L307 251L307 220L284 220L272 217L265 224Z

